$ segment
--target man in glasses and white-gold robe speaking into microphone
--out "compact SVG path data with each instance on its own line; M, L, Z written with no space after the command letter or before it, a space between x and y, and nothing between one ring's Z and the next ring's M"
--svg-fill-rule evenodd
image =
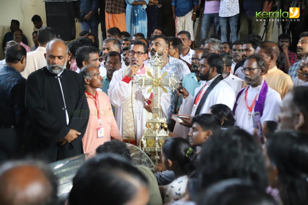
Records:
M108 97L116 106L115 121L125 142L136 144L143 136L146 120L152 116L152 93L147 88L139 89L132 80L137 75L149 77L147 71L152 69L144 65L148 57L148 48L142 41L133 41L129 47L131 65L113 73ZM161 92L162 116L167 117L170 105L170 93Z

